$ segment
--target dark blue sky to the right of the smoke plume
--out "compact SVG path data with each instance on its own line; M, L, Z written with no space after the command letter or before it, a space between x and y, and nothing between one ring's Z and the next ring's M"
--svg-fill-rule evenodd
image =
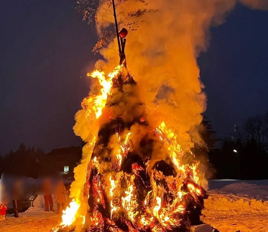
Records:
M237 5L224 24L211 28L210 47L198 63L208 99L205 115L219 136L267 112L268 12Z

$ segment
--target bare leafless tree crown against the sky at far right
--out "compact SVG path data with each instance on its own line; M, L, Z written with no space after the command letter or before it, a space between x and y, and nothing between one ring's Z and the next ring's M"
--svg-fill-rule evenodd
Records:
M242 142L253 142L258 150L268 149L268 113L264 116L257 115L250 117L244 121L242 130L239 127L235 128L235 136Z

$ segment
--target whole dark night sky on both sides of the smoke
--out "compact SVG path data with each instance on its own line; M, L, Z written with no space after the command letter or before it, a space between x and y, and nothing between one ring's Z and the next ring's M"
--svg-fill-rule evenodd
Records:
M53 148L81 145L74 115L88 95L84 73L99 58L91 53L95 29L81 21L74 0L0 1L0 152L21 142ZM238 5L211 28L200 55L208 97L206 116L221 137L242 119L268 110L268 12Z

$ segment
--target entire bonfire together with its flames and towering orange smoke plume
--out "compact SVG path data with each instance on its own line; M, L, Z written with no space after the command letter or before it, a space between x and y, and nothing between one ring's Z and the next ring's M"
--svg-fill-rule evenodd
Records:
M102 53L109 62L98 64L116 65L117 44L120 64L109 74L87 74L98 88L92 84L76 113L74 131L86 141L83 159L74 170L73 200L51 232L189 231L202 224L207 193L190 150L200 137L189 135L206 105L196 56L207 46L211 22L220 24L236 2L77 0L83 19L99 31L115 25L116 38ZM262 1L240 2L265 8ZM150 12L154 16L144 17ZM128 51L133 78L125 62L128 32L118 28L136 31L139 21L146 23L132 34ZM111 41L112 33L105 35L95 52ZM159 100L161 85L170 96Z

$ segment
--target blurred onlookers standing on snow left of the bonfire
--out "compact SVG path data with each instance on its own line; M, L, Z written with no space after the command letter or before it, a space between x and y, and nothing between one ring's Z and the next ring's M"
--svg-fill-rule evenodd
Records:
M21 178L13 178L9 183L0 186L0 221L5 220L8 210L7 204L13 204L13 216L17 218L18 213L22 211L22 200L25 198L25 188ZM8 182L6 182L8 183ZM52 179L46 177L42 181L39 189L40 194L44 196L45 210L55 212L52 195L55 196L57 202L57 213L61 213L65 209L66 201L69 199L69 190L66 190L63 179ZM26 194L27 195L27 194ZM69 203L69 202L67 202Z

